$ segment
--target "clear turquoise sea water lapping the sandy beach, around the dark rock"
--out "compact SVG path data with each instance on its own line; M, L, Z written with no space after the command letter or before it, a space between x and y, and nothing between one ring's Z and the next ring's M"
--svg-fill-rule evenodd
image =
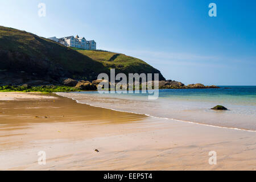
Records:
M163 89L157 100L148 94L59 93L80 103L151 117L178 119L204 125L256 131L256 86L220 89ZM211 110L223 105L226 111Z

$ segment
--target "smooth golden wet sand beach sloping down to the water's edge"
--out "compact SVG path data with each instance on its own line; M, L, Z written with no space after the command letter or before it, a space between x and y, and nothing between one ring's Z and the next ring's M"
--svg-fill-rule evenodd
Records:
M39 151L46 165L38 164ZM216 165L208 163L210 151ZM255 170L256 133L122 113L56 94L0 93L0 169Z

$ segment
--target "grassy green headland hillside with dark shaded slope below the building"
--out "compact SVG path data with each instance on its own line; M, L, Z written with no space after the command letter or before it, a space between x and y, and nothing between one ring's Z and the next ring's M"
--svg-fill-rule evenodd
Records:
M100 73L109 75L110 68L115 68L116 73L159 73L159 80L165 80L160 71L135 57L75 50L25 31L0 26L0 85L60 84L63 78L92 81Z

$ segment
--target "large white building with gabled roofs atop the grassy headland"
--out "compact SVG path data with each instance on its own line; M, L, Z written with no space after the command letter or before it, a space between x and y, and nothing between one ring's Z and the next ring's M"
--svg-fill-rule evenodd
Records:
M96 50L96 42L94 40L87 41L85 38L80 38L78 35L74 38L74 36L66 36L64 38L56 38L56 36L51 39L55 42L61 43L67 47L75 47L86 50Z

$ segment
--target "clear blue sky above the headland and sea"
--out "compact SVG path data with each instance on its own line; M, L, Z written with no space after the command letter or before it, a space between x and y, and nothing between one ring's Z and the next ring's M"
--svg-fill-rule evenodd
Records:
M46 3L46 17L38 4ZM217 17L208 15L209 3ZM0 25L39 36L76 35L98 49L138 57L167 79L256 85L256 1L9 0Z

